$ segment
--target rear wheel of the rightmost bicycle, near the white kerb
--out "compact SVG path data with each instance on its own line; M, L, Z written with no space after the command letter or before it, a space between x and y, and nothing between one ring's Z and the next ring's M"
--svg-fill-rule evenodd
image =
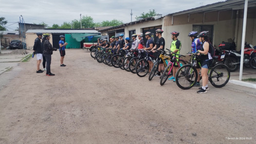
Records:
M230 70L225 64L215 65L209 74L209 81L214 87L223 87L228 83Z

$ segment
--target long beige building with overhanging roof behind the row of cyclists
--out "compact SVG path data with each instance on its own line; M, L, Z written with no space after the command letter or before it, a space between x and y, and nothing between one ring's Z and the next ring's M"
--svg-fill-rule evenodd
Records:
M198 8L162 16L154 16L123 24L99 32L117 34L116 30L123 29L125 37L133 33L154 32L162 28L165 38L165 48L170 48L170 32L180 32L178 37L182 42L181 54L191 51L191 41L188 33L191 31L209 31L209 38L218 47L222 41L235 37L237 50L241 49L244 0L226 0ZM154 32L155 33L155 32ZM154 35L155 36L155 35ZM256 0L248 0L247 24L245 41L256 45Z

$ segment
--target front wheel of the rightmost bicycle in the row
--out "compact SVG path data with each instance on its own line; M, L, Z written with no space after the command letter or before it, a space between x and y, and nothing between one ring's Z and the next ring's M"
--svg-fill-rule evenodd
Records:
M197 78L197 69L191 64L185 64L180 67L175 76L176 84L183 90L192 88L195 85Z

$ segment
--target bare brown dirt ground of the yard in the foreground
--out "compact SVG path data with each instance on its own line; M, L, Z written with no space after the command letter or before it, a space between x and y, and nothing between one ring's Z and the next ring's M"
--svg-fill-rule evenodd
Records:
M67 49L48 77L36 58L0 75L0 144L256 144L255 89L181 90ZM41 65L42 68L42 65Z

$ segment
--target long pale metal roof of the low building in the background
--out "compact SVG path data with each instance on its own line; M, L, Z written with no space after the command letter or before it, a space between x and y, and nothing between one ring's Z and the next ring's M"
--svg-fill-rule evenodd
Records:
M100 33L96 30L28 30L26 33Z

